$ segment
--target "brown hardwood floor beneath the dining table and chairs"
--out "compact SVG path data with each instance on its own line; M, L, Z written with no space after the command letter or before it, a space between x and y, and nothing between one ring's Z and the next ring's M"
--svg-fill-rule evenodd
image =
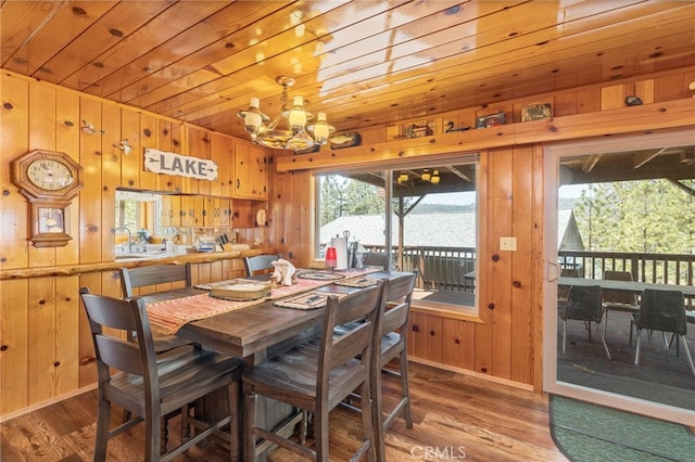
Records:
M384 377L384 406L395 395L395 381ZM421 364L410 364L414 427L397 419L387 435L389 461L566 461L548 429L547 396ZM97 394L90 392L18 416L1 425L0 460L90 461ZM113 412L114 423L121 413ZM178 434L178 418L170 437ZM358 445L359 416L349 409L331 413L331 460L348 460ZM109 460L142 459L138 426L109 444ZM176 461L228 461L216 442L197 447ZM303 460L278 450L271 462Z

